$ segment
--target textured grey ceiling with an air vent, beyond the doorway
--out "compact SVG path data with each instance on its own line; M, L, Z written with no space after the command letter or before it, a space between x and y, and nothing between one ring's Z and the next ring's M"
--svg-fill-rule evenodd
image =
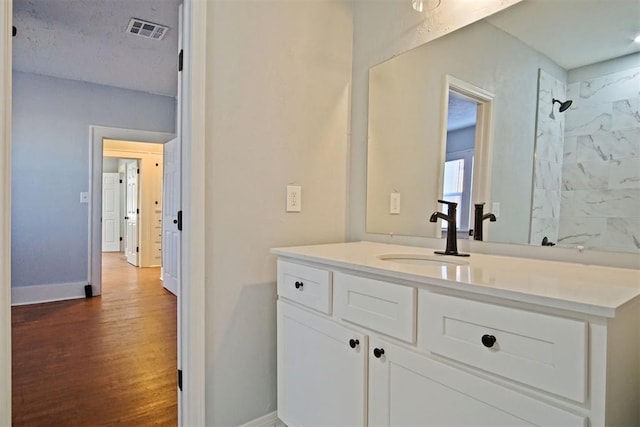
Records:
M14 0L13 69L176 96L180 0ZM125 32L130 18L163 40Z

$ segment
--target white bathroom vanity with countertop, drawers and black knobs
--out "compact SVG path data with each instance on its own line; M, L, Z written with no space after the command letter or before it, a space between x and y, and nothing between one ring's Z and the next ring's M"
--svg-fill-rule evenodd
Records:
M272 251L288 425L640 425L638 270L371 242Z

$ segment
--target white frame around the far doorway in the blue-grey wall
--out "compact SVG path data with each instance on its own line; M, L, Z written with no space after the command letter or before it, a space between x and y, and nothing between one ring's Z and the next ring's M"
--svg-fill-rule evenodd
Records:
M88 281L94 295L102 293L102 157L103 141L115 139L164 144L175 134L108 126L89 126L89 265Z

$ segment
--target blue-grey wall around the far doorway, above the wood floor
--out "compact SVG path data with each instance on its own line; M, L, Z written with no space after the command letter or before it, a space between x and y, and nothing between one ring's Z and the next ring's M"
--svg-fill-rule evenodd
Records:
M14 72L13 287L87 280L90 125L173 132L175 99Z

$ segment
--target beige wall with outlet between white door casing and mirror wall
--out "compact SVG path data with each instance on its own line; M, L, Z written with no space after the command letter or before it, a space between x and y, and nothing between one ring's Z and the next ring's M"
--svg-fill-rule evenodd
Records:
M345 240L352 14L343 1L207 9L206 421L239 425L276 409L269 248ZM301 213L285 213L288 183Z

